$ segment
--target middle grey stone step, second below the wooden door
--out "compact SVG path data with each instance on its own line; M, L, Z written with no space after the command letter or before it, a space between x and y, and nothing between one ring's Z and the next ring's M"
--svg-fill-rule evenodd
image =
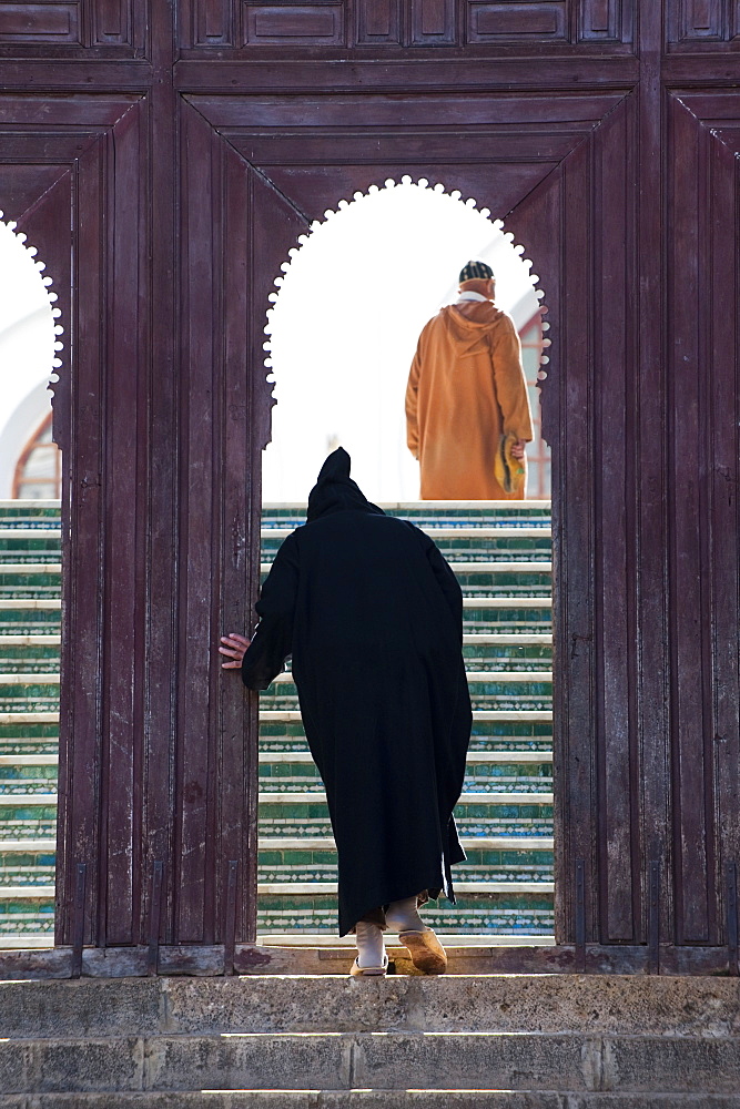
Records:
M469 1087L621 1093L740 1088L737 1039L298 1032L0 1042L0 1089L196 1092Z

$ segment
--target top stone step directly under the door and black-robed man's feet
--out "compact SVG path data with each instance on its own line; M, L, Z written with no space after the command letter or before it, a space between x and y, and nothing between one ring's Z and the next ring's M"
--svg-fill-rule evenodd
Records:
M733 1038L740 980L339 974L0 981L0 1035L11 1039L322 1029Z

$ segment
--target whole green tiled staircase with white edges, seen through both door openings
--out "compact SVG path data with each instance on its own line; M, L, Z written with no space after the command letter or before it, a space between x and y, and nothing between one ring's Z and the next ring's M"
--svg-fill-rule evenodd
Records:
M546 502L385 506L428 530L465 593L474 729L457 818L458 903L425 919L459 943L553 932L550 531ZM262 558L303 510L267 506ZM59 693L59 505L0 502L0 946L53 935ZM336 943L336 861L295 688L263 694L261 938ZM506 939L504 937L507 937ZM541 939L540 939L541 942Z

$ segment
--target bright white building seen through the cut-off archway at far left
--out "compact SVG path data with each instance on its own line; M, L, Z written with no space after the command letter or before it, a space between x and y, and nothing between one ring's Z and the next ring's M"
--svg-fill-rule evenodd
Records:
M0 213L1 215L1 213ZM0 499L58 497L51 394L61 325L33 247L0 220Z

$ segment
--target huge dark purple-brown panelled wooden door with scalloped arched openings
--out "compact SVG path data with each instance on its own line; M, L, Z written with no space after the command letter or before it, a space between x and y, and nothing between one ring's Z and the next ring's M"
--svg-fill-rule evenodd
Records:
M174 32L0 2L0 207L67 327L58 943L151 938L160 874L163 942L253 938L256 706L212 644L251 622L267 297L407 173L504 218L549 312L557 938L727 962L740 7L192 0Z

